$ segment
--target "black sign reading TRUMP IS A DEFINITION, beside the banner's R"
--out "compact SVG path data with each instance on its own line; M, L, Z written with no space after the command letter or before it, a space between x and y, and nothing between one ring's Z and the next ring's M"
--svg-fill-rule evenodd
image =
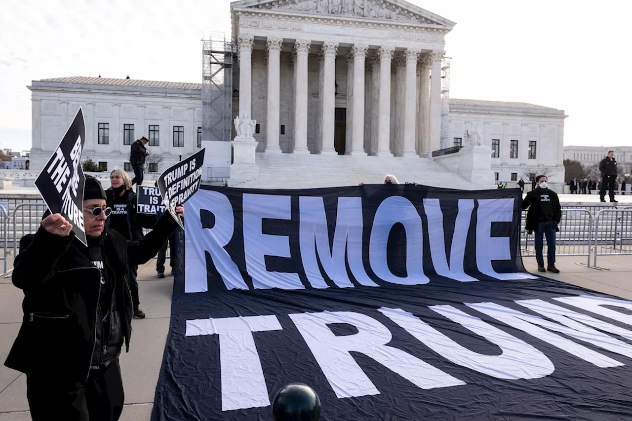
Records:
M158 188L160 188L164 205L182 229L185 229L185 226L176 214L176 207L184 204L200 188L204 150L202 148L190 157L169 167L158 178Z

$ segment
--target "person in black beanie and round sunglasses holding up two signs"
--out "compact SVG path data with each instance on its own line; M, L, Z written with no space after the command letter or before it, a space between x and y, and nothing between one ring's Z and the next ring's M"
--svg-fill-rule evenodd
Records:
M99 181L86 176L83 194L87 247L63 216L49 214L35 235L20 240L15 258L12 280L24 291L24 317L4 364L27 374L33 421L119 419L119 354L131 336L128 265L154 257L178 227L166 212L145 238L128 241L105 227L111 210Z

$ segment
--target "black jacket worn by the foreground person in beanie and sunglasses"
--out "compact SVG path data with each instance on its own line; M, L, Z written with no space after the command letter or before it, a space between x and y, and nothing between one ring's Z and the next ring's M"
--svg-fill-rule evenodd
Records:
M4 364L27 374L83 381L95 363L115 359L124 342L129 350L133 305L128 265L154 257L177 227L171 214L165 214L140 241L107 229L104 266L107 260L114 276L111 317L118 318L111 319L111 326L120 330L114 327L106 343L101 339L99 269L73 234L60 237L40 228L15 259L12 280L24 291L24 317Z

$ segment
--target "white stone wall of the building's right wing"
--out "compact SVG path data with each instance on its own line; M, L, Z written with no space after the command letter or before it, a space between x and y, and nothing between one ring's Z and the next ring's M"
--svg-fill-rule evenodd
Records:
M500 140L500 156L492 157L492 171L499 174L499 181L507 185L515 184L511 180L514 173L518 180L528 180L528 174L549 173L551 183L564 182L564 115L561 111L532 113L520 110L478 111L476 107L466 109L461 106L450 110L451 138L462 138L466 145L468 126L477 126L483 133L485 143ZM511 140L518 140L518 157L511 158ZM535 140L537 152L535 159L528 157L529 141Z

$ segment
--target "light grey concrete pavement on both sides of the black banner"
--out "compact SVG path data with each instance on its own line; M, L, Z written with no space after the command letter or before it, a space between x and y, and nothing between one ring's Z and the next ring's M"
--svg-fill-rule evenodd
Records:
M524 262L528 271L537 271L535 258L527 257ZM547 272L546 275L632 300L632 256L600 256L599 266L609 271L598 271L577 264L585 262L585 257L559 257L557 267L562 272ZM140 307L147 318L133 321L130 353L121 355L125 385L125 409L121 421L149 420L171 314L173 277L155 278L155 260L139 267L138 284ZM21 299L22 293L11 284L11 279L0 278L0 362L4 362L20 328ZM0 421L28 420L25 375L3 365L0 367Z

